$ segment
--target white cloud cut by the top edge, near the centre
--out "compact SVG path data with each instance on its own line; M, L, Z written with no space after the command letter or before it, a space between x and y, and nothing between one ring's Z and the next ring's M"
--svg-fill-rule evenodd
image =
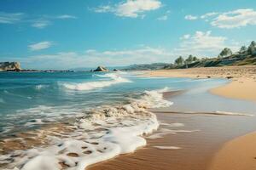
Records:
M142 17L144 12L160 8L160 0L126 0L113 6L106 5L95 8L96 13L113 13L121 17Z

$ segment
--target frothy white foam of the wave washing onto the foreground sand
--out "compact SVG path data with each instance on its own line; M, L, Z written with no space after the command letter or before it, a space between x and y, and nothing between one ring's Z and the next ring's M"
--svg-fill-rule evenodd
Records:
M52 145L16 150L1 156L0 163L8 163L9 169L17 170L55 170L61 169L61 165L68 170L84 170L96 162L133 152L147 144L144 134L159 127L156 116L147 109L172 105L162 98L161 92L146 91L141 99L131 99L127 105L102 106L88 111L83 117L77 117L73 132L65 133L65 138L60 137L61 132L55 132L59 135L48 136Z

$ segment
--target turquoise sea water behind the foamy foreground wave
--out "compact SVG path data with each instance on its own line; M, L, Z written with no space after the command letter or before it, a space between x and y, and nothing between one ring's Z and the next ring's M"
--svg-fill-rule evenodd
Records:
M145 90L216 87L221 79L139 77L139 73L0 72L0 135L83 115L102 105L125 105Z

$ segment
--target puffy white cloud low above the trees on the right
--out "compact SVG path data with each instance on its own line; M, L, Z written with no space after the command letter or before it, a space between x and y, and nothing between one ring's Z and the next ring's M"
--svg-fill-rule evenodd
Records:
M223 48L237 50L237 44L228 42L226 37L212 36L211 31L196 31L194 35L184 35L178 48L174 49L175 54L195 54L198 56L217 56Z

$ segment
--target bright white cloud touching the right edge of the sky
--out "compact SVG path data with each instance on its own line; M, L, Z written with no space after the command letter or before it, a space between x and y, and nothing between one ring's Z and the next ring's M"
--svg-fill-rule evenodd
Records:
M256 26L256 11L252 8L245 8L219 14L211 21L211 25L227 29Z

